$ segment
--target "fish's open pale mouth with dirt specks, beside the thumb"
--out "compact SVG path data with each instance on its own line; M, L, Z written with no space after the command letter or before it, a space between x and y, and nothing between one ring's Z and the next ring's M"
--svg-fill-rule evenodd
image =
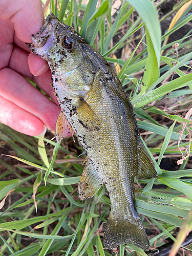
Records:
M53 13L49 14L44 26L42 26L36 35L31 36L32 44L30 46L35 48L43 47L49 37L54 34L54 30L58 21L58 18Z

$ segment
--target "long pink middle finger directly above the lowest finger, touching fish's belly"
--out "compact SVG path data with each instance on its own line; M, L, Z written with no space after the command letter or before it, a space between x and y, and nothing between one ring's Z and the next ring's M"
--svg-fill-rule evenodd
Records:
M55 123L60 109L32 84L15 71L5 68L0 71L0 95L19 108L26 110L40 119L50 129ZM9 90L7 90L9 88Z

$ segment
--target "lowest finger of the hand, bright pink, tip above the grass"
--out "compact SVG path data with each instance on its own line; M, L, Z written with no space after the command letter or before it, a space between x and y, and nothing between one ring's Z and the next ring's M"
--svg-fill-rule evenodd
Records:
M44 132L44 124L29 112L20 109L14 103L0 96L0 121L12 129L27 135L35 136Z

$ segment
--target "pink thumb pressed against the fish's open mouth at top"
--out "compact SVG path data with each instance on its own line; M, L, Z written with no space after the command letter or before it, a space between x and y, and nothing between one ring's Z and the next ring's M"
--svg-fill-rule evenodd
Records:
M44 24L44 12L40 0L0 1L0 18L10 19L17 37L31 42L31 34L36 34Z

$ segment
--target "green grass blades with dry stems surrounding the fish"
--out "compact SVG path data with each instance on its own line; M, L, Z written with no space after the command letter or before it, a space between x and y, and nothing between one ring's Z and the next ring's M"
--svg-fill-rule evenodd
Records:
M106 60L116 63L116 70L121 67L118 76L124 89L129 90L141 135L155 158L159 174L159 180L136 179L135 185L136 208L150 245L155 247L165 244L167 239L176 241L180 227L182 237L186 236L191 230L192 206L190 158L184 159L174 171L161 169L166 158L176 161L182 157L177 143L184 122L187 129L185 127L181 136L180 148L183 155L186 150L191 151L191 121L185 119L185 115L192 98L192 74L189 73L192 31L178 41L168 42L170 35L191 20L192 16L188 15L191 1L178 2L161 17L165 20L177 12L177 19L172 19L169 29L161 35L156 10L163 2L154 6L149 0L123 1L113 19L110 0L103 0L98 6L95 0L90 0L87 6L75 0L51 1L52 12L61 21L75 27ZM135 15L134 9L139 15ZM79 11L84 12L83 19L77 15ZM111 40L118 35L117 44L111 45ZM110 53L116 54L125 45L133 45L133 41L137 54L127 60L111 57ZM172 49L176 42L180 45L178 60ZM173 72L177 78L171 81ZM60 144L49 141L51 133L45 138L29 137L3 124L0 127L1 153L11 155L0 158L0 199L7 196L0 212L0 254L114 254L102 245L104 229L101 224L106 223L110 211L110 199L104 186L93 199L80 202L77 196L77 183L83 169L82 159L78 162L77 156L83 152L82 148L69 138ZM175 251L179 243L180 237ZM184 252L190 255L191 250L189 246ZM118 254L146 255L133 245L120 246Z

